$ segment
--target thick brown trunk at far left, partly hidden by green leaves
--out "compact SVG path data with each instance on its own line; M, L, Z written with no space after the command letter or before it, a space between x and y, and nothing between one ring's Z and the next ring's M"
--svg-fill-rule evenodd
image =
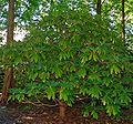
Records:
M14 0L9 0L8 10L8 31L7 31L7 43L13 41L14 30ZM3 87L2 87L2 101L6 102L8 99L8 90L13 85L13 69L10 68L4 72Z

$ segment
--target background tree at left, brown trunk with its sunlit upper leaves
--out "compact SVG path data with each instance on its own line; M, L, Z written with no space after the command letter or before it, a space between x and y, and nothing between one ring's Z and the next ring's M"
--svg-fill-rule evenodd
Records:
M14 27L21 30L25 30L25 25L40 20L41 18L41 8L45 7L47 1L20 1L17 0L6 0L0 1L0 31L7 30L7 43L12 42ZM40 6L39 6L40 4ZM14 9L16 7L16 9ZM8 8L8 10L7 10ZM16 18L14 18L16 17ZM33 19L34 18L34 19ZM2 39L2 38L1 38ZM13 70L4 72L3 87L2 87L2 100L4 101L8 96L8 89L13 85Z

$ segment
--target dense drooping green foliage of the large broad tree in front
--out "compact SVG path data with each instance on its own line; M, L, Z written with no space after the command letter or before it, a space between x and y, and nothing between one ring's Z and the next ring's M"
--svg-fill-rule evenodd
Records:
M88 96L83 115L101 110L119 115L132 100L133 56L110 19L86 4L55 3L23 42L0 48L1 64L13 66L16 89L9 100L60 100L74 105Z

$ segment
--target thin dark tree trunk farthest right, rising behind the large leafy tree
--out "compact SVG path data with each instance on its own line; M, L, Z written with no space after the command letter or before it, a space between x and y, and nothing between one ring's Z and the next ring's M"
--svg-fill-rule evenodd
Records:
M125 12L124 12L124 2L125 2L125 0L122 0L122 39L123 39L123 42L125 42Z

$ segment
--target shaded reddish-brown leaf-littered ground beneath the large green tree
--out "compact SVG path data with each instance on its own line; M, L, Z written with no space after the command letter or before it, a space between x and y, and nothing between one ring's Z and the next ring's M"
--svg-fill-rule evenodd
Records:
M57 107L33 107L29 105L9 105L0 106L0 124L133 124L133 113L124 110L130 118L111 120L105 114L100 118L92 120L83 117L78 107L68 108L66 117L59 118L59 108Z

